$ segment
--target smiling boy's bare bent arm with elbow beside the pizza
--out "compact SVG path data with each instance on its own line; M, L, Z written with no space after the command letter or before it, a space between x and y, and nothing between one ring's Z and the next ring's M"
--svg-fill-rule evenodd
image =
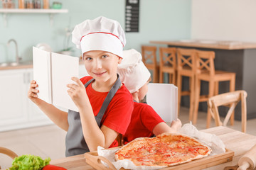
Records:
M78 106L82 123L82 133L88 148L90 151L95 151L97 150L97 146L104 148L110 147L119 133L107 128L105 125L102 125L102 127L99 128L89 98L86 94L85 86L80 79L76 77L72 79L77 84L68 84L68 87L70 88L68 94L75 102L75 105Z

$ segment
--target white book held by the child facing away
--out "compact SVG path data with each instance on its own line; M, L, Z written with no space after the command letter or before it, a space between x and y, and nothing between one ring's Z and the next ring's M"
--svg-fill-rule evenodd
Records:
M174 84L149 84L146 103L165 122L178 118L178 88Z

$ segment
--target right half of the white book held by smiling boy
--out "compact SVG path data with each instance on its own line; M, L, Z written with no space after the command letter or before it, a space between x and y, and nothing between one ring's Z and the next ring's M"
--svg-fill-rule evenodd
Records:
M67 84L75 84L71 77L79 77L79 58L52 52L53 105L78 111L68 95Z

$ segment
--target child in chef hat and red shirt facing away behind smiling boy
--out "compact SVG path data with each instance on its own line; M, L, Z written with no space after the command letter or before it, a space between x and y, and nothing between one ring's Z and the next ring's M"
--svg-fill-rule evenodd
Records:
M117 72L134 99L132 120L123 135L124 144L137 137L153 137L163 132L176 132L181 128L180 120L174 120L169 127L151 106L139 103L146 96L147 84L150 81L150 72L142 62L142 55L134 49L126 50L123 54L124 58Z

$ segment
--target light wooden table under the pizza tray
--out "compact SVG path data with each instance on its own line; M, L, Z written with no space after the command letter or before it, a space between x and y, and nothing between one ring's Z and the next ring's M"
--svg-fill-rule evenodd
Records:
M238 164L238 159L242 157L245 152L247 152L252 146L256 144L256 136L248 135L243 132L233 130L226 127L215 127L206 130L201 130L201 132L208 132L217 135L225 143L226 148L231 149L235 152L232 162L225 164L220 164L218 166L213 166L208 169L224 169L225 166L233 166ZM83 154L66 157L63 159L55 159L50 162L50 164L55 164L57 166L63 166L66 169L78 170L78 169L93 169L92 166L85 162Z

